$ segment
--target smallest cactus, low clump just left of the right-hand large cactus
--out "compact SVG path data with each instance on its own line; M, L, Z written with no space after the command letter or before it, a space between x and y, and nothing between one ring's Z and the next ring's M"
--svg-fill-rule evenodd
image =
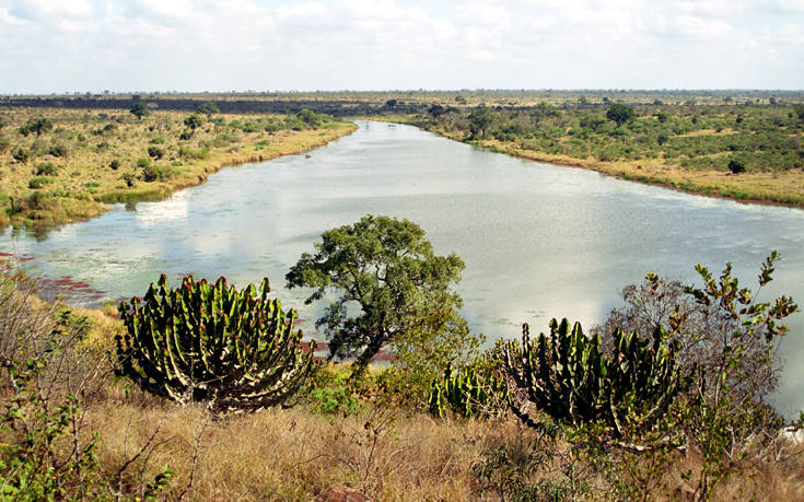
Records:
M428 405L430 413L441 418L447 409L470 418L493 412L506 394L504 382L493 373L483 374L471 366L455 370L450 363L444 376L433 381Z

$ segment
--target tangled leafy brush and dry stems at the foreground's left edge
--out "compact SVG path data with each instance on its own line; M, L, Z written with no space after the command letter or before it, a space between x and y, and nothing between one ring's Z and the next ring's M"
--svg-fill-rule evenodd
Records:
M108 487L97 437L82 433L81 398L96 388L93 360L102 362L77 349L88 319L37 302L36 284L22 275L0 273L0 493L3 500L95 499Z

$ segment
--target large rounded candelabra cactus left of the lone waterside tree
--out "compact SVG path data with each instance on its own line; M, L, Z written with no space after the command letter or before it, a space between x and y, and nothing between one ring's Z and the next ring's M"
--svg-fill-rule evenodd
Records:
M214 412L283 404L317 369L293 331L296 313L269 300L268 279L242 291L185 277L167 288L162 275L148 293L120 303L126 326L116 337L118 374L180 404L203 401Z

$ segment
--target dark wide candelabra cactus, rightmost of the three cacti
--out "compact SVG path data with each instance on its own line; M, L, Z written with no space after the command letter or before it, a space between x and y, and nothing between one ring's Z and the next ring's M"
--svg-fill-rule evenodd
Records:
M506 374L536 408L572 424L603 423L618 437L651 430L663 418L684 381L675 362L675 345L663 329L652 339L613 334L614 351L601 350L597 336L586 338L581 325L550 322L550 335L505 348ZM521 407L514 413L529 422Z

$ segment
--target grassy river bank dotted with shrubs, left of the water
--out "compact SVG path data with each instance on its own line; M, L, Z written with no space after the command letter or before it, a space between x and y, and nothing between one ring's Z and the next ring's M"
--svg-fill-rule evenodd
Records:
M0 229L47 231L100 215L109 203L161 200L223 167L302 153L357 129L301 116L306 121L293 115L203 119L158 112L137 119L97 110L5 112L0 118L11 133L0 137ZM23 133L37 121L49 126Z

